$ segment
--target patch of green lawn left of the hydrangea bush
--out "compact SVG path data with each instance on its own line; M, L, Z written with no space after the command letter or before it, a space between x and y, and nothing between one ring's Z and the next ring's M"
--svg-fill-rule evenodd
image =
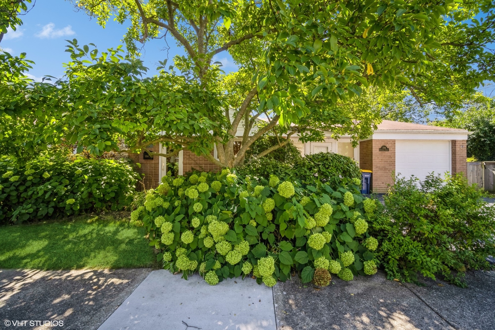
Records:
M0 227L0 268L44 270L155 267L143 227L126 219L76 220Z

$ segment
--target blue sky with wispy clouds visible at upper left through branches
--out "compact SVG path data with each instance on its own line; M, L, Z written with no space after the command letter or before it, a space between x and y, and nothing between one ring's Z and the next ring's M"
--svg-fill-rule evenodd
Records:
M34 2L34 1L33 1ZM45 75L61 78L63 76L62 63L69 61L66 53L66 39L77 39L79 45L95 44L98 49L122 45L122 37L127 31L127 25L121 25L110 20L106 28L99 26L96 19L91 19L83 11L78 11L69 1L63 0L36 0L35 6L21 16L24 24L16 31L9 30L3 37L0 47L12 55L27 53L27 58L35 61L30 77L40 80ZM149 68L148 74L156 73L158 61L184 54L182 48L177 47L172 38L167 44L160 40L152 40L145 44L142 50L142 60ZM232 58L227 52L218 54L214 60L222 62L226 72L237 71Z

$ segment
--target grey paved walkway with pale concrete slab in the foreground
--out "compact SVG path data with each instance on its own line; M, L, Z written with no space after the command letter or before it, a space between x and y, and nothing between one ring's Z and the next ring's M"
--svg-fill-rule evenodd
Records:
M466 278L467 289L431 280L417 286L379 272L334 278L324 288L294 278L272 290L250 278L209 286L198 275L185 281L164 270L6 270L0 329L61 328L5 327L5 320L57 320L61 329L84 330L495 329L495 272Z

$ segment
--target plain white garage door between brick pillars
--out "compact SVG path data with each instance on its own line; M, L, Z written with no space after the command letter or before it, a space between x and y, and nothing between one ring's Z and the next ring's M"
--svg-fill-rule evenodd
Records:
M424 180L431 172L450 172L450 141L396 140L396 174Z

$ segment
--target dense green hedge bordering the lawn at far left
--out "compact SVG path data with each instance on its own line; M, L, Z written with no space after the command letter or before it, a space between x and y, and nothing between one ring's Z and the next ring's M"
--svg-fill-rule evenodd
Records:
M0 173L3 224L121 210L132 201L139 179L127 161L80 156L74 160L39 157L22 166L5 158Z

